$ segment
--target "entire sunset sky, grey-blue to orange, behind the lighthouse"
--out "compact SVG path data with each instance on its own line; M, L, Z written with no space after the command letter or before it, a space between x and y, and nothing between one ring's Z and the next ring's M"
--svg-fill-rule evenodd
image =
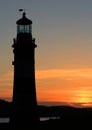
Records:
M92 0L0 1L0 98L12 100L20 8L33 21L38 103L92 106Z

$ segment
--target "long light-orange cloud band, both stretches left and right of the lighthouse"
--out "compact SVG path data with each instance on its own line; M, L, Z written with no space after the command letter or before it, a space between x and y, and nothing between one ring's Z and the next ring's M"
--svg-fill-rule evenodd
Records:
M51 69L36 70L36 79L92 79L92 69ZM0 75L0 83L13 81L13 72ZM1 86L1 85L0 85Z

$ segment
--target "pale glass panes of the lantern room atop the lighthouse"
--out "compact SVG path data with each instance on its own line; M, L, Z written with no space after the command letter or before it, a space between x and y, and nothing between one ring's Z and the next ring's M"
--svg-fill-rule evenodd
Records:
M32 26L30 25L17 25L17 33L32 33Z

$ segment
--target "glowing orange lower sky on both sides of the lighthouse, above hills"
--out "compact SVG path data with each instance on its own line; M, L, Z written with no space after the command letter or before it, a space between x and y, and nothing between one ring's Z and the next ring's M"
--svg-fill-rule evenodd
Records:
M13 90L13 71L0 76L0 97L9 99ZM36 71L38 102L62 102L77 107L92 102L92 69L52 69Z

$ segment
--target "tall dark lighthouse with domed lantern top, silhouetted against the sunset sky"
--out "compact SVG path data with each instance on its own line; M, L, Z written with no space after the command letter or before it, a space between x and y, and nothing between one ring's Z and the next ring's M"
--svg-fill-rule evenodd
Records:
M35 83L35 38L32 21L26 17L17 20L14 38L14 85L10 123L14 128L34 128L39 122Z

